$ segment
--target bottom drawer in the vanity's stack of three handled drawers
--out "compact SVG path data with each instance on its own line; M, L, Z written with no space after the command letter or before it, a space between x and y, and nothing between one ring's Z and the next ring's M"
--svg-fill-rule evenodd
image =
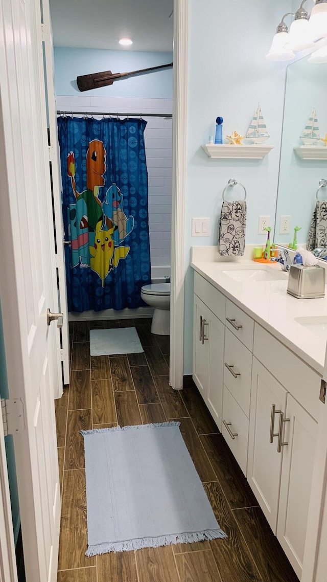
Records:
M232 451L244 475L247 471L248 418L233 398L229 389L223 387L222 435Z

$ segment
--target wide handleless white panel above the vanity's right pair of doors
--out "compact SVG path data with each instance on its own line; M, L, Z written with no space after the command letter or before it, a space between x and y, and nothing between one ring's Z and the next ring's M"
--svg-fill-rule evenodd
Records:
M257 323L254 326L253 354L318 421L319 374Z

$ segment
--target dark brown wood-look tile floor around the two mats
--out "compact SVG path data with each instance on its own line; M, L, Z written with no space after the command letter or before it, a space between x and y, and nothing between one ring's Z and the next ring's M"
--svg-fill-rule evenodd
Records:
M151 320L75 322L70 385L56 400L62 519L58 582L297 582L246 478L193 385L168 383L169 338ZM90 328L135 325L144 353L90 357ZM186 446L226 540L86 558L80 430L180 420Z

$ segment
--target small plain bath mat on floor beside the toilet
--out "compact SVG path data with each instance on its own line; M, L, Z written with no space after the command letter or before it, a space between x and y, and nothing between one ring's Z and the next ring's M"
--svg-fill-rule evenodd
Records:
M91 329L91 356L138 354L143 352L136 328Z

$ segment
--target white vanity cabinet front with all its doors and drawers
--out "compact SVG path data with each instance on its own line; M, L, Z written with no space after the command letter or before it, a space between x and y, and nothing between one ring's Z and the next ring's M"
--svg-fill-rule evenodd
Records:
M197 272L193 379L301 578L321 378Z

